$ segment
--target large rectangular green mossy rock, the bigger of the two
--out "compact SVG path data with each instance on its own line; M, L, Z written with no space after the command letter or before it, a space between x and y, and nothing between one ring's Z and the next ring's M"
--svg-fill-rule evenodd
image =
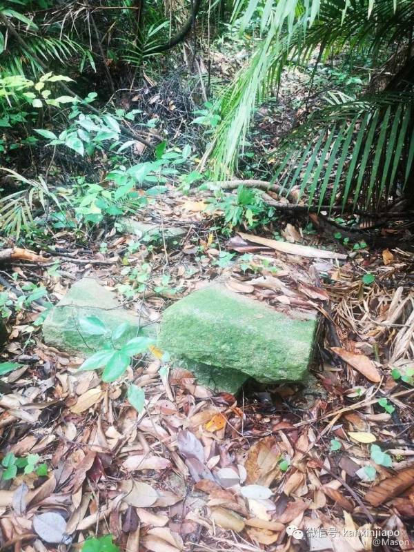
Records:
M262 383L295 382L307 373L316 326L315 315L279 313L213 284L166 309L159 345L221 373L230 368Z

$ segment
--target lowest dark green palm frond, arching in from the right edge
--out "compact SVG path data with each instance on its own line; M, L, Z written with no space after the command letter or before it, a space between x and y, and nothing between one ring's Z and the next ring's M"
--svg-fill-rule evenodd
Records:
M306 193L309 203L318 197L319 207L328 199L332 208L342 198L343 208L376 208L410 181L414 94L384 93L328 106L290 132L279 155L274 180L282 193L299 181L299 197Z

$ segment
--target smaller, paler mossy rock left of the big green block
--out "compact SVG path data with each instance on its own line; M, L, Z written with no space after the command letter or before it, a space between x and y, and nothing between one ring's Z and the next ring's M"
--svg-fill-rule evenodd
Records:
M95 316L108 328L106 335L83 335L79 326L81 317ZM65 297L52 308L43 322L43 339L47 345L54 346L59 351L81 353L84 356L92 354L108 344L113 331L124 322L130 324L130 329L117 342L124 342L138 335L156 333L154 325L145 325L130 311L119 305L115 294L101 286L97 280L83 278L74 284ZM140 328L141 324L141 328Z

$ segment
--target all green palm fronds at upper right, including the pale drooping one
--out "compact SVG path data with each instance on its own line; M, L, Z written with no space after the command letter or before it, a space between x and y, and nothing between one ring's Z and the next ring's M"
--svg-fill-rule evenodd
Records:
M236 10L242 4L239 0ZM252 17L248 8L253 5L257 0L248 0L244 20ZM406 46L406 59L382 94L328 106L286 138L275 178L286 190L299 186L310 202L319 197L319 204L326 193L333 204L340 191L344 206L350 199L353 206L377 205L397 188L412 184L414 58L409 45L413 1L402 0L396 7L393 0L377 0L373 6L368 0L322 1L310 27L311 8L296 3L295 17L290 12L290 19L281 23L279 6L280 2L273 6L266 1L264 39L248 68L219 100L222 121L212 146L217 176L237 165L253 110L277 88L288 61L306 63L315 48L319 48L318 59L344 50L349 58L364 51L385 59L388 48Z

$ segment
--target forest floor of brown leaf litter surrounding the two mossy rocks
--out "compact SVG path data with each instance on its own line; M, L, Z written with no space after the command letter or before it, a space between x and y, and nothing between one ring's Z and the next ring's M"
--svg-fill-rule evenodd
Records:
M275 124L259 117L262 130ZM159 322L220 277L278 310L319 312L311 384L213 393L184 368L160 371L157 349L106 384L43 343L34 321L44 306L32 297L14 310L2 355L20 365L1 375L3 457L27 461L0 482L1 551L80 549L108 533L130 552L414 549L409 229L341 233L323 215L282 213L224 237L209 197L170 183L149 198L132 218L154 224L158 240L113 225L79 245L73 230L55 230L53 246L37 250L43 261L1 267L8 300L41 286L56 303L88 276ZM185 233L167 244L171 226ZM297 245L312 249L304 256ZM141 412L126 400L132 381L145 391Z

